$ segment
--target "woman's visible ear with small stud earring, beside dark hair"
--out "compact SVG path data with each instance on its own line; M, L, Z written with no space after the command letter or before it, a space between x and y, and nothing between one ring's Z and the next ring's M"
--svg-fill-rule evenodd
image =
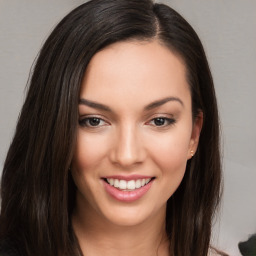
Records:
M193 122L192 133L188 148L188 159L191 159L196 153L200 133L203 127L203 119L203 112L200 111Z

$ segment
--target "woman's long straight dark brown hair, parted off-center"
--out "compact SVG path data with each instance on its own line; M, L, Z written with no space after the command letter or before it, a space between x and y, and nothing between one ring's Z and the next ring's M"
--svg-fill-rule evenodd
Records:
M203 112L197 153L167 202L170 255L205 256L220 199L219 122L211 72L192 27L151 0L93 0L68 14L46 40L9 148L1 181L0 239L26 255L81 255L71 226L69 174L82 78L92 56L124 40L158 40L187 69L193 117Z

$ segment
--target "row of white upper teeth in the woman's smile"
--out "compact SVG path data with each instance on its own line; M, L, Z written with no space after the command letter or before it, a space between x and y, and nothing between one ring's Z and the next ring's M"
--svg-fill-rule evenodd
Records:
M119 188L121 190L134 190L137 188L141 188L150 182L150 178L148 179L138 179L138 180L118 180L118 179L107 179L107 182L114 186L115 188Z

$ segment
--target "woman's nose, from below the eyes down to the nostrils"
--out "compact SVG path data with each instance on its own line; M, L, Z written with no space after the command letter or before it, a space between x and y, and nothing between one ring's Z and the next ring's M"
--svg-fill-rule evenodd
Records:
M126 126L120 128L114 140L114 145L110 153L112 163L129 168L141 164L146 157L142 136L135 127Z

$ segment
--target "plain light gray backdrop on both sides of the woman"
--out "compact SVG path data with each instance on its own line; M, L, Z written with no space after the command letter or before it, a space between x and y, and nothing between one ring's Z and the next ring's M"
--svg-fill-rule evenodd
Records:
M0 0L0 173L31 64L54 25L82 0ZM231 255L256 233L256 1L166 0L198 32L218 97L225 190L213 241Z

